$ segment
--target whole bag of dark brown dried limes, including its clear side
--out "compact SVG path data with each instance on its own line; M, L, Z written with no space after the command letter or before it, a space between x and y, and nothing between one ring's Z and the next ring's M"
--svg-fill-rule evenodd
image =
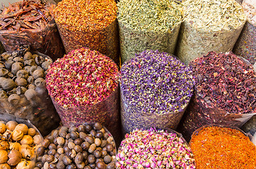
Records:
M0 55L0 112L30 120L43 135L58 127L59 116L45 87L49 56L20 51Z

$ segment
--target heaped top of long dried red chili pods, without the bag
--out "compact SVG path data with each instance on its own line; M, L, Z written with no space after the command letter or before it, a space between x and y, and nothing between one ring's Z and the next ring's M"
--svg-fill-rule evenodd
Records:
M50 4L42 1L18 1L1 9L0 30L43 29L52 20Z

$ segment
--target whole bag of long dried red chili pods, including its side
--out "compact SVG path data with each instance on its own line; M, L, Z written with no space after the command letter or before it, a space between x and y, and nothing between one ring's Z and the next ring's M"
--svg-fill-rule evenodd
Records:
M0 40L6 51L21 45L47 54L53 60L64 55L64 46L48 1L18 1L0 11Z

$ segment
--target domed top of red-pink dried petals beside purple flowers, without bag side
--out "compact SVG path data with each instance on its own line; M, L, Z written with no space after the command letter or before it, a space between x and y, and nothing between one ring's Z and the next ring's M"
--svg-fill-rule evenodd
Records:
M82 48L52 63L46 80L50 96L64 108L74 108L106 99L116 89L118 77L110 58Z

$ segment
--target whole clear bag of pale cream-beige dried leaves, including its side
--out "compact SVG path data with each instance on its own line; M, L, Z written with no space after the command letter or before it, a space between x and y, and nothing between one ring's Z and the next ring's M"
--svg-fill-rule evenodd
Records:
M182 1L182 15L176 56L186 64L209 51L231 51L246 21L234 0Z

